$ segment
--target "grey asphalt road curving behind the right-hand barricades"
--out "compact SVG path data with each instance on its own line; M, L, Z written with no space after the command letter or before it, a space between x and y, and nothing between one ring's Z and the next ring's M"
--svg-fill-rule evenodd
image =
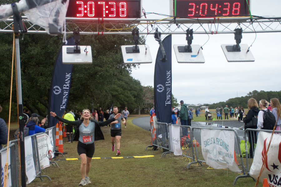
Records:
M141 127L147 131L150 131L150 117L139 117L132 120L132 123L138 127ZM208 121L208 122L191 122L191 127L208 127L208 128L234 128L240 140L244 140L244 123L237 121Z

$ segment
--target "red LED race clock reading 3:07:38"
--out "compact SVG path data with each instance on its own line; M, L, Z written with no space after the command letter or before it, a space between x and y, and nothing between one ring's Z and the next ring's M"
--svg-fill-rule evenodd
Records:
M141 0L70 0L66 17L140 18Z

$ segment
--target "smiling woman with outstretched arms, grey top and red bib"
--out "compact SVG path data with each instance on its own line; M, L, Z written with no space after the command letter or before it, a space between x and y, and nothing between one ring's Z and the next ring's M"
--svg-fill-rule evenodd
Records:
M57 118L59 121L63 123L67 123L70 125L75 125L75 132L73 135L73 139L71 139L71 143L73 141L78 141L77 144L77 152L81 158L81 176L82 180L79 183L79 186L85 186L86 184L91 184L89 179L89 171L91 168L91 160L95 152L95 143L97 140L104 140L104 136L101 132L100 126L106 126L110 122L113 122L121 114L116 114L109 120L104 122L96 121L90 113L89 109L84 109L82 112L82 116L80 120L76 121L68 121L56 115L56 113L50 112L51 116ZM115 121L117 123L118 121Z

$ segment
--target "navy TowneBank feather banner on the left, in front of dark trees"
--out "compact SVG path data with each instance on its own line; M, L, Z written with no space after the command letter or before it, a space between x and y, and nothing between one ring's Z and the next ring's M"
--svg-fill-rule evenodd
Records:
M65 46L63 44L63 46ZM75 46L73 36L67 39L67 46ZM55 60L48 110L48 128L55 126L58 120L50 115L50 112L56 113L62 117L66 110L67 101L70 92L70 83L72 76L72 64L62 64L62 47L60 48Z

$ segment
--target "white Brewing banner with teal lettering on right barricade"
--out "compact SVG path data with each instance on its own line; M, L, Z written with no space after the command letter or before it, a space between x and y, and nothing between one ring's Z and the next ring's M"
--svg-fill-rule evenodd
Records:
M240 173L234 160L234 137L233 131L201 129L201 149L206 164L214 169L228 168Z

